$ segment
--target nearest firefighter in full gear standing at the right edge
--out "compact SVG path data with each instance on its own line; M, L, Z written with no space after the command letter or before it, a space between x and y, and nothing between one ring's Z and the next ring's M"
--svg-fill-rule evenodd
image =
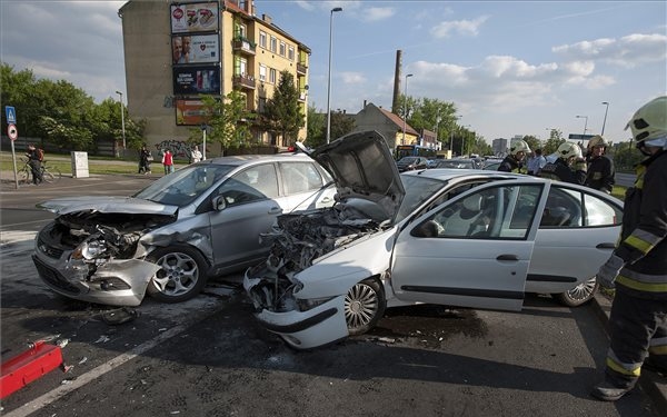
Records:
M617 247L597 281L615 288L605 379L590 393L615 401L644 370L667 373L667 96L644 105L630 119L646 156L628 188Z

